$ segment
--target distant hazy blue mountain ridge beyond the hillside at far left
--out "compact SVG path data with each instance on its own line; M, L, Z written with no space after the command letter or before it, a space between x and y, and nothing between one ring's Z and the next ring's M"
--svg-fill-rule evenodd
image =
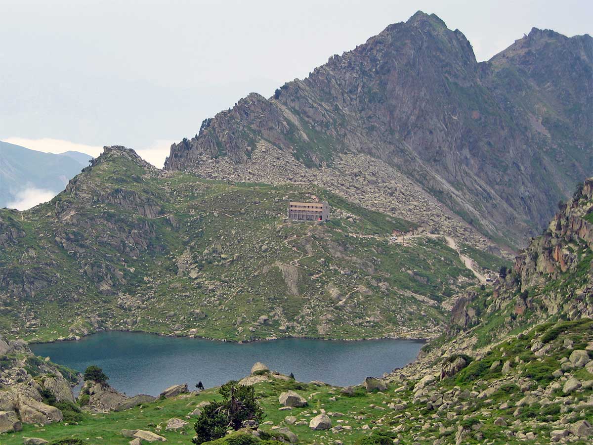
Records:
M26 189L62 191L91 158L78 151L44 153L0 141L0 208Z

